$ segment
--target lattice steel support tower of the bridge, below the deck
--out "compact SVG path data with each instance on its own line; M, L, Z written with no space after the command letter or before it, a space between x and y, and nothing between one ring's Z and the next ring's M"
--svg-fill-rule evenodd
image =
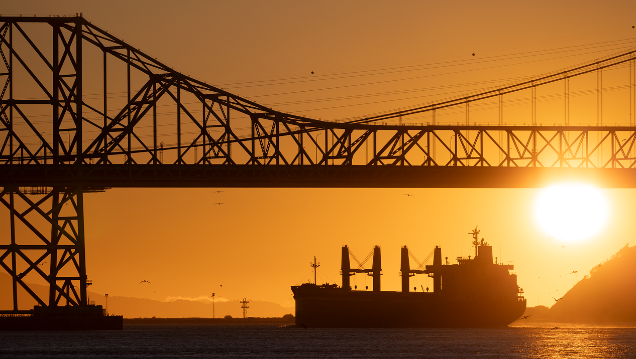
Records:
M11 312L31 309L18 303L18 285L39 306L55 307L60 301L70 306L89 304L82 189L5 186L0 202L8 209L5 222L10 223L3 226L6 232L1 237L10 238L10 243L0 243L0 266L11 275ZM48 300L26 283L38 278L48 282Z

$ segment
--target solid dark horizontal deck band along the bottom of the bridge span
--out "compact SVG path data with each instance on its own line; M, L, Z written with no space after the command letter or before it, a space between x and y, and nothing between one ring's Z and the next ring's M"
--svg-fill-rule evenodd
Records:
M73 172L68 171L69 167ZM0 186L543 188L558 182L636 188L636 169L567 167L143 165L0 166Z

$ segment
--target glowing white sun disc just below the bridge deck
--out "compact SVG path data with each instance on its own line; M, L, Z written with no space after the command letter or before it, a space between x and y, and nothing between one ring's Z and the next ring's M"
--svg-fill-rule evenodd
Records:
M605 223L607 205L592 186L548 188L537 204L539 223L556 238L578 240L596 233Z

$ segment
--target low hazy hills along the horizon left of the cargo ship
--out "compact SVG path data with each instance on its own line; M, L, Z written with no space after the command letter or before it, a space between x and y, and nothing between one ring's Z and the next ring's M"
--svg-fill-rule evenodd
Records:
M40 298L48 300L48 287L39 284L29 284ZM104 294L88 291L91 301L106 308ZM232 315L242 317L240 299L227 302L217 301L214 304L214 312L217 318ZM18 285L18 304L20 310L28 310L38 304L27 292ZM0 310L13 309L11 297L11 276L0 271ZM212 318L212 303L206 304L199 301L177 300L172 303L154 301L134 297L108 296L108 311L111 314L123 315L124 318ZM276 303L250 300L249 317L282 317L286 314L294 314L293 307L284 307Z

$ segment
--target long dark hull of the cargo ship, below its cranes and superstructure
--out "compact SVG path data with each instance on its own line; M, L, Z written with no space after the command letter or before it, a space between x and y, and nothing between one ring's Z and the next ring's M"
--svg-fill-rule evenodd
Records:
M526 307L525 299L515 296L368 292L306 284L292 290L296 324L307 327L506 327Z

